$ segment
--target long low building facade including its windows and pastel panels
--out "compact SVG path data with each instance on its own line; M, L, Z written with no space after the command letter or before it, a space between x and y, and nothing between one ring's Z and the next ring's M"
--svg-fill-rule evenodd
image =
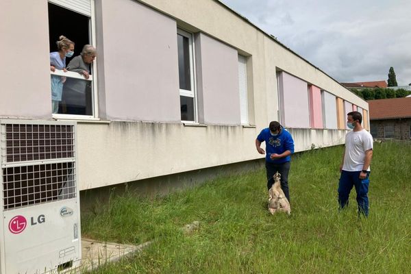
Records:
M274 120L295 151L342 144L352 110L369 129L366 101L219 1L4 0L0 25L0 117L77 121L81 190L260 160ZM51 74L86 81L51 73L60 35L97 48L81 113L64 91L51 110Z

